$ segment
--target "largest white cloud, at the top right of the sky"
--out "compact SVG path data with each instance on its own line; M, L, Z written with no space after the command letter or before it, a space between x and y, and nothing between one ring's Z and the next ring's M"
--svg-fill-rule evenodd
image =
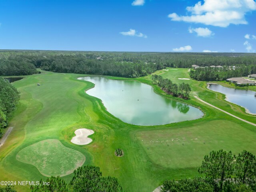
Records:
M172 21L202 23L205 25L227 27L230 24L248 24L245 14L256 10L254 0L204 0L195 6L187 7L190 16L169 14Z

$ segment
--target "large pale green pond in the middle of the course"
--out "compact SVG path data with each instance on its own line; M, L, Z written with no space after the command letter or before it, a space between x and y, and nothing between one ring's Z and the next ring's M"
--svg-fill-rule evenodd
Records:
M203 116L195 107L164 98L147 84L135 80L109 80L101 76L78 78L95 87L86 93L100 98L111 114L135 125L163 125Z

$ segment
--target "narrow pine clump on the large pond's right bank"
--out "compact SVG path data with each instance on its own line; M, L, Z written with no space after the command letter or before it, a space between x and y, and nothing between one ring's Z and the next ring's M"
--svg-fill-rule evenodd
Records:
M173 96L181 98L189 97L191 91L189 84L185 84L184 82L181 84L176 84L167 78L164 79L162 76L155 74L151 76L151 79L154 84L160 86L162 90L164 90L168 94L172 94Z

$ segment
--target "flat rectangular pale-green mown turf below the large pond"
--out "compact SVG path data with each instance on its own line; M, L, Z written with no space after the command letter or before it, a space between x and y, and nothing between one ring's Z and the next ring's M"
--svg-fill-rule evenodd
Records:
M230 135L232 132L236 134ZM255 133L225 120L180 129L141 131L137 136L150 159L166 168L198 167L205 154L221 148L235 154L244 149L256 154L252 145L256 143Z

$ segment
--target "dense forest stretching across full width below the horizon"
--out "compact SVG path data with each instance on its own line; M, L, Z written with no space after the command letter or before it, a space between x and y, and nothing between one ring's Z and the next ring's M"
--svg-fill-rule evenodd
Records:
M136 78L166 67L256 66L256 54L0 51L0 75L36 73L35 68L61 73L98 74ZM244 67L246 66L246 67ZM249 69L244 74L248 75Z

